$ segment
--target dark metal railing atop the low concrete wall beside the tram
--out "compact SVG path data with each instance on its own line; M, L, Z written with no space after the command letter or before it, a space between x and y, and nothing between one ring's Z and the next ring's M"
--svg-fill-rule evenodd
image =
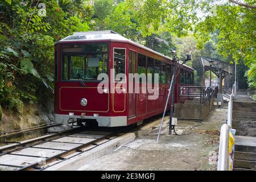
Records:
M210 102L211 98L216 98L218 93L218 87L212 86L178 86L178 103L181 103L182 98L192 100L193 98L200 98L200 104L206 104Z

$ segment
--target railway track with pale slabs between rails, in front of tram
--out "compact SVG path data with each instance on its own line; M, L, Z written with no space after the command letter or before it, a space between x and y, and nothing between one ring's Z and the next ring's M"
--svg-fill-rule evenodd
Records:
M156 119L159 118L148 119L139 127ZM90 151L133 129L135 129L133 126L108 128L108 131L102 127L75 127L60 133L3 146L0 147L0 171L44 170Z

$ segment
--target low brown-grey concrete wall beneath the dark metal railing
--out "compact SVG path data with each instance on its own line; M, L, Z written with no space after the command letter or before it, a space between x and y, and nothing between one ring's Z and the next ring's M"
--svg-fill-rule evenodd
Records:
M205 105L203 104L193 104L193 103L186 103L186 104L175 104L174 109L174 117L180 119L200 119L204 120L207 115L213 109L213 100L206 102Z

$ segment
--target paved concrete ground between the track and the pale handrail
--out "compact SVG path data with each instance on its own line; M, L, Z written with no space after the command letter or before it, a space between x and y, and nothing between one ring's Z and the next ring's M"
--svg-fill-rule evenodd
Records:
M214 109L205 122L178 121L177 135L168 135L164 122L159 128L118 150L94 160L80 170L216 170L219 130L227 108Z

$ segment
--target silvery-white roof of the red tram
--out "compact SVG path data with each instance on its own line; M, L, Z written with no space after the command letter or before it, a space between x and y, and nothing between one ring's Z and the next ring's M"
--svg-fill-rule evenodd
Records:
M166 59L172 60L171 57L165 56L162 53L156 52L148 47L142 46L139 43L133 42L132 40L129 40L122 35L118 34L117 32L114 32L112 30L104 30L104 31L88 31L88 32L74 32L73 35L69 35L64 39L61 39L59 42L71 42L71 41L92 41L92 40L110 40L110 41L117 41L117 42L127 42L131 44L135 44L136 46L146 49L149 52L155 53L156 55L159 55L161 57L164 57ZM181 63L179 63L181 64ZM189 67L188 65L183 64L184 67L187 67L189 69L193 69ZM194 69L193 69L194 70Z

